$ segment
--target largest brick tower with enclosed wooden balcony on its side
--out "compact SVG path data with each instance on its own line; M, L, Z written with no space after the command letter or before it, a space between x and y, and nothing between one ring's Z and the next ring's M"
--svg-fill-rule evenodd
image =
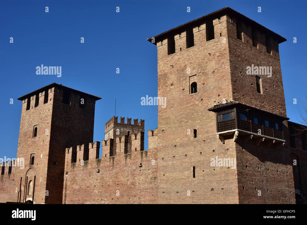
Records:
M278 52L286 39L227 6L148 41L167 99L158 203L295 203Z

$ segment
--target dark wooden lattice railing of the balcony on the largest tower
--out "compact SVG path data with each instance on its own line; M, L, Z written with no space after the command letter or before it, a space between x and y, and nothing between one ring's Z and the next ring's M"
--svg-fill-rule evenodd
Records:
M217 123L218 129L217 132L223 132L227 130L240 129L245 130L251 133L262 134L268 137L274 137L283 140L283 132L282 130L276 130L271 127L266 127L264 125L259 125L256 123L248 122L245 120L238 120L238 127L236 127L235 119L222 121ZM261 133L259 133L259 129Z

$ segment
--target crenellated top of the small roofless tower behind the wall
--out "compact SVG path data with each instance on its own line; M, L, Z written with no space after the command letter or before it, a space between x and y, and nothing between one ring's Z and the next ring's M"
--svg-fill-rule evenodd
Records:
M131 129L144 129L145 126L145 120L140 119L140 122L138 122L138 119L133 119L133 124L131 123L132 118L126 118L125 123L125 117L120 117L118 122L118 116L113 116L108 122L105 124L105 132L109 131L111 128L131 128Z

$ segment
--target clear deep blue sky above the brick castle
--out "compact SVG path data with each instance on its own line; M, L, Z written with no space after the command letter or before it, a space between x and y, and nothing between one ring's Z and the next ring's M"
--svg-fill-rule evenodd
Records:
M157 50L146 38L226 6L288 39L279 45L287 116L293 122L300 119L299 100L305 98L307 82L305 1L110 2L1 1L0 158L16 157L21 117L17 98L52 82L102 97L96 102L94 141L104 139L115 98L116 115L145 119L147 136L147 129L157 127L157 106L140 102L142 96L157 96ZM62 66L62 76L37 75L41 64Z

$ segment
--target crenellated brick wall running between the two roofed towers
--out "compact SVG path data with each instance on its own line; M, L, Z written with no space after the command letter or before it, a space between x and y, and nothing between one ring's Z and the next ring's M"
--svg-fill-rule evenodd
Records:
M90 157L84 162L84 145L77 146L76 163L71 163L72 148L67 148L63 204L157 203L157 151L155 148L140 151L142 134L132 136L131 148L137 151L128 154L124 154L125 136L114 141L116 156L109 156L113 139L103 140L101 159L99 142L89 144ZM152 142L149 140L150 146L156 145Z

